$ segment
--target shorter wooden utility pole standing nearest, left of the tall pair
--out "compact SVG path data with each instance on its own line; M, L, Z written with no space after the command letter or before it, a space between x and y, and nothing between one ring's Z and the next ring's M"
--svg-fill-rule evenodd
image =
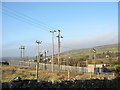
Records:
M37 44L37 62L36 62L36 79L38 81L38 69L39 69L39 59L40 59L40 55L39 55L39 45L42 43L42 41L37 41L36 40L36 44Z

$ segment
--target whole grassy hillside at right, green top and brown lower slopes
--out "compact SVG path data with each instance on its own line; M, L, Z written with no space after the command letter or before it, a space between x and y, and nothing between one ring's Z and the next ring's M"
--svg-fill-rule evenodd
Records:
M92 48L83 48L77 50L70 50L61 53L61 62L68 62L69 65L85 64L86 60L88 63L94 63L94 53L93 48L96 50L96 63L106 63L106 64L118 64L120 61L118 59L118 44L95 46ZM109 58L106 58L107 52L109 51ZM70 57L70 58L69 58ZM57 61L57 57L56 57ZM65 64L65 63L61 63Z

